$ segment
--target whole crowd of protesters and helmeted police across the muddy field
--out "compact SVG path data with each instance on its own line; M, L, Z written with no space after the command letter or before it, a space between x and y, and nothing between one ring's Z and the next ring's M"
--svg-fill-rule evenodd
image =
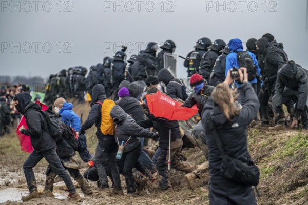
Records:
M47 174L48 185L53 185L55 175L61 176L72 201L81 198L65 174L65 168L80 183L85 194L90 194L91 190L84 178L97 181L98 188L103 190L110 187L109 176L112 192L123 195L120 174L125 177L127 194L142 191L145 178L153 182L158 180L160 188L166 190L170 188L166 161L169 152L171 167L186 173L189 188L195 189L195 180L209 172L210 204L229 204L229 201L256 204L251 185L235 182L221 173L222 156L251 164L246 140L249 125L268 126L273 130L286 129L287 125L291 129L308 129L308 73L294 61L288 61L282 43L277 43L269 33L258 40L248 39L246 47L244 50L238 38L229 40L228 44L221 39L211 42L209 38L200 38L184 61L191 90L164 68L164 53L174 53L176 48L172 40L166 40L158 54L159 46L150 42L145 50L127 61L123 47L112 58L105 57L102 63L91 66L88 75L82 66L50 75L44 101L53 105L51 112L60 114L62 121L80 136L80 150L75 151L91 166L84 176L68 163L75 161L72 159L75 151L63 157L54 150L63 145L44 132L48 129L45 121L40 123L40 129L31 130L29 119L36 119L32 119L32 126L37 127L33 121L38 123L37 119L42 119L42 113L36 112L40 108L30 102L27 93L15 95L17 110L29 122L29 128L21 128L21 133L30 135L31 142L42 142L32 143L35 152L24 165L30 195L23 200L40 197L31 170L43 157L53 170L52 174ZM158 91L182 101L184 107L197 105L197 115L201 117L199 126L183 128L177 120L166 122L153 115L145 96ZM16 94L8 93L9 97ZM81 125L79 117L72 112L72 104L66 100L76 98L84 103L86 93L91 110ZM288 118L283 104L287 107ZM85 137L86 130L93 125L98 138L94 156L86 149ZM153 156L144 149L148 138L158 141ZM122 147L122 158L117 155L119 147ZM183 160L183 147L201 148L206 161L196 165ZM51 157L55 155L59 157ZM141 174L134 174L136 170ZM44 194L52 195L52 189L45 187Z

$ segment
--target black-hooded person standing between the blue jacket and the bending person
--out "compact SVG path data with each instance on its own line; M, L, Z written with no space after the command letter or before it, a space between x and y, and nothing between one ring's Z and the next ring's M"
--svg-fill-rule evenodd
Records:
M256 48L260 60L264 63L262 66L265 68L262 73L262 92L259 94L260 118L263 124L268 124L268 101L274 95L278 70L286 63L287 59L282 50L269 45L267 38L257 40ZM293 105L287 107L290 109ZM283 118L283 116L281 117Z

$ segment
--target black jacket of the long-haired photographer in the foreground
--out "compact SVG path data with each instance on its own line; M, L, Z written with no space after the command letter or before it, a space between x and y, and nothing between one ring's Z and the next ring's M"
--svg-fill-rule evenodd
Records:
M228 121L219 106L214 105L210 97L203 109L202 125L205 130L205 137L208 148L208 162L210 175L220 175L221 154L214 139L214 135L209 131L207 120L212 119L216 125L216 130L222 142L224 154L233 156L237 159L251 160L247 149L247 126L252 122L259 110L257 95L249 89L249 84L242 84L245 105L240 113ZM213 180L213 178L212 178Z

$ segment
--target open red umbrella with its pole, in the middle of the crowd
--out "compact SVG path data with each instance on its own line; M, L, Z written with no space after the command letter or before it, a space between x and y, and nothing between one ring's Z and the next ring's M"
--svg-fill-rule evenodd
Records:
M155 94L145 95L147 106L150 113L155 117L162 117L170 120L169 128L169 158L168 158L168 170L171 169L171 120L188 120L194 116L197 112L197 105L192 108L181 107L183 104L168 97L167 95L157 91Z

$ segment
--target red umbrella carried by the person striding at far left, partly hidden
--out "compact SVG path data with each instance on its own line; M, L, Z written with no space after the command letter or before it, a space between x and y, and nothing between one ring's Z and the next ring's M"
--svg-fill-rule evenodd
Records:
M48 109L48 106L44 105L38 100L36 100L34 103L37 103L38 105L40 105L43 111ZM30 136L24 135L19 131L20 127L22 126L25 126L26 129L28 128L26 124L26 118L24 116L22 116L21 121L16 128L16 134L17 134L18 140L20 141L21 150L31 153L33 151L33 147L31 145Z

